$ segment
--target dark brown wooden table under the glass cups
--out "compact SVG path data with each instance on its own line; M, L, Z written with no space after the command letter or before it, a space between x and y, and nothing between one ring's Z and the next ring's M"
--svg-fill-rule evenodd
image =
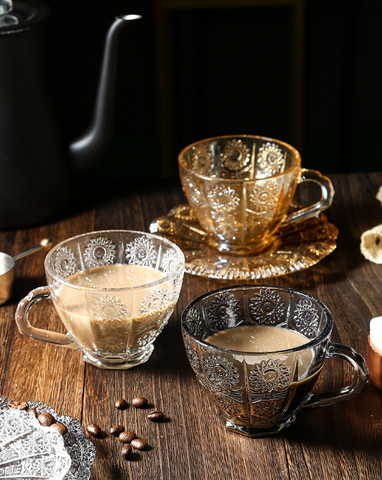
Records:
M359 245L363 231L382 223L382 206L375 198L382 173L331 179L336 196L327 216L339 228L337 249L310 269L262 283L291 286L318 297L334 314L333 340L365 356L369 321L382 315L382 265L365 260ZM153 218L185 201L177 182L146 187L142 182L133 189L132 184L139 182L125 182L114 189L113 197L104 196L56 222L0 232L0 250L15 255L43 237L55 244L92 230L147 231ZM186 275L176 311L149 362L129 371L105 371L85 364L79 351L35 342L18 332L16 305L29 290L45 284L43 257L38 253L17 263L16 294L0 307L0 395L40 400L58 414L76 417L84 426L96 422L105 431L122 423L150 444L149 451L126 461L115 438L92 440L97 450L92 479L382 478L382 392L370 384L350 401L300 413L296 424L276 437L250 439L223 428L188 364L180 316L192 299L229 282ZM48 302L40 302L32 312L32 323L61 328ZM351 383L344 362L330 362L318 388ZM115 400L137 395L163 410L167 421L147 421L147 410L115 409Z

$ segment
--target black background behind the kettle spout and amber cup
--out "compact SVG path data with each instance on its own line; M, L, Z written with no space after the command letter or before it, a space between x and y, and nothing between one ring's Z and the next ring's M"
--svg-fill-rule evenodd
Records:
M167 162L177 177L176 154L163 159L161 149L157 2L46 2L53 10L44 33L46 60L68 141L90 122L113 18L143 16L121 36L114 141L92 175L158 178ZM171 19L174 152L202 138L239 133L292 143L291 9L183 8L171 10ZM306 0L303 136L294 145L305 167L381 170L381 20L379 1Z

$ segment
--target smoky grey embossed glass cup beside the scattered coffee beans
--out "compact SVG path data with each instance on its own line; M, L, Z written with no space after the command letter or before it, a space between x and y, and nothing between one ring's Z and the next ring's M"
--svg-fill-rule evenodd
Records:
M298 332L307 343L248 353L206 342L217 332L245 325ZM272 285L221 288L191 302L183 311L181 328L198 381L212 396L225 426L243 435L277 434L296 421L300 410L348 400L368 382L365 359L351 347L330 341L330 310L298 290ZM324 363L333 357L350 363L353 383L313 394Z

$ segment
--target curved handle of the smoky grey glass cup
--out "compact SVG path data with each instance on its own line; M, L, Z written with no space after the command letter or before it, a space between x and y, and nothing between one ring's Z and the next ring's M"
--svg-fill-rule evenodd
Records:
M363 392L369 381L369 370L366 360L355 350L347 345L340 343L331 343L326 351L326 358L342 358L350 363L354 369L354 381L351 385L332 390L330 392L312 395L303 409L324 407L333 403L349 400L350 398Z

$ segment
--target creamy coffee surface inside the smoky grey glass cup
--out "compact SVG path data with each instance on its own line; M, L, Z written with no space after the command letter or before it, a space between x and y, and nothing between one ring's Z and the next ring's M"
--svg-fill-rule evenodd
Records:
M206 342L227 350L259 353L259 357L255 359L248 356L246 358L248 364L259 362L261 353L264 353L264 357L267 354L265 358L269 358L270 352L277 352L274 354L275 358L285 361L286 364L292 366L297 362L299 379L303 379L306 376L313 360L311 349L296 353L284 353L285 350L296 348L309 342L309 339L301 333L286 328L244 325L215 333L207 338Z

